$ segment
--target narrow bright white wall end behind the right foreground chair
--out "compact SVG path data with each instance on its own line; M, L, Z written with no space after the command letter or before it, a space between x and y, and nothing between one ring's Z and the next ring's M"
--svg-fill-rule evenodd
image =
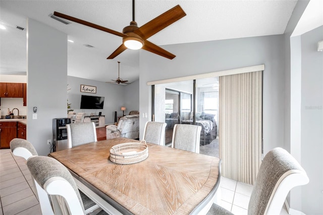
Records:
M297 91L300 90L300 72L297 71L299 66L300 48L297 38L291 38L299 19L301 18L309 0L298 1L292 16L284 32L285 46L285 86L284 86L284 148L289 151L299 163L301 163L300 148L300 110L294 109L300 106L300 99ZM295 56L296 55L296 56ZM291 67L294 67L293 71ZM295 70L296 69L296 70ZM296 93L296 96L295 96ZM292 107L292 108L291 108ZM291 190L290 196L287 196L289 206L293 209L302 210L301 187L295 187Z

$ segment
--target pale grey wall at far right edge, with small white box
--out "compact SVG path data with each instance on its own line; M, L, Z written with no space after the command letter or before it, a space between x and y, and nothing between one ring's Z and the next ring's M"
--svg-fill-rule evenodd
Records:
M301 35L301 164L309 177L302 211L323 214L323 26Z

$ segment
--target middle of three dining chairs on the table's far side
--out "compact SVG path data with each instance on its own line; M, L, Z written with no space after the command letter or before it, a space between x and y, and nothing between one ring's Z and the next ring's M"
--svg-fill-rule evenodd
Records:
M146 122L143 139L148 143L165 145L166 123Z

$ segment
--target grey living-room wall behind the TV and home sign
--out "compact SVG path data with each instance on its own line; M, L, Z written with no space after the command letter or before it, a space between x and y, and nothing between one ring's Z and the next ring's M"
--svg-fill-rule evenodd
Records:
M69 99L69 103L71 103L71 108L74 110L75 113L84 112L86 113L86 116L89 116L91 113L93 113L94 115L98 115L99 112L102 112L102 115L105 116L105 124L113 124L115 122L115 111L118 112L118 116L122 116L121 106L124 105L125 103L124 95L125 95L126 86L122 86L118 84L110 84L110 83L105 83L101 81L93 81L93 80L88 80L83 78L77 78L73 76L67 77L67 83L68 83L68 88L70 89L67 91L67 96ZM96 93L81 92L80 91L81 84L95 86ZM133 92L137 92L137 94L139 94L139 88L137 89L134 88L132 90ZM99 109L99 110L80 109L81 95L103 96L104 97L103 109ZM139 101L137 102L139 106Z

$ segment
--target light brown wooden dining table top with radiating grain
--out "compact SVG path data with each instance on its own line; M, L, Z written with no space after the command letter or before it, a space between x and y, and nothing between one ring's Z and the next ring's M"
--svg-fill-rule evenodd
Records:
M133 214L195 213L216 192L219 158L147 143L149 156L142 162L111 162L110 148L126 142L139 141L102 140L49 156Z

